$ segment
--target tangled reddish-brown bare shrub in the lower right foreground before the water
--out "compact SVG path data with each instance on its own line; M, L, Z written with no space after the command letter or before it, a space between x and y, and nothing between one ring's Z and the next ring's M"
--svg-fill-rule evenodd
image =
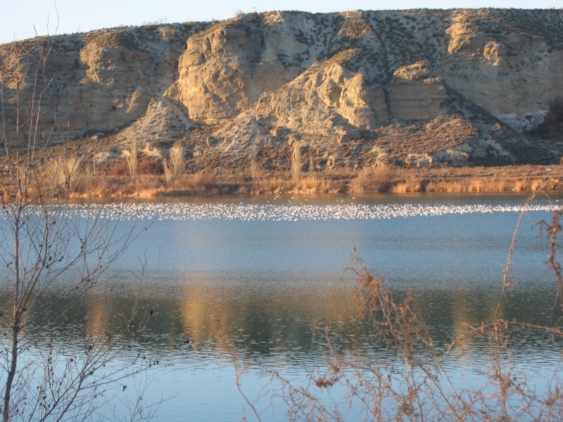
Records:
M534 195L530 200L533 198ZM526 373L515 369L512 353L518 342L529 335L550 338L560 350L563 268L557 257L562 248L563 210L555 211L550 221L539 224L550 249L548 266L557 281L552 325L503 317L507 295L519 287L519 280L511 274L512 259L516 236L525 216L526 212L520 215L514 230L492 314L481 324L464 324L449 344L435 344L432 328L422 318L412 290L406 294L393 293L385 277L374 276L354 250L343 279L353 281L372 335L379 339L378 354L366 361L335 352L331 345L336 339L330 327L321 327L327 355L324 364L310 373L310 382L296 385L279 371L270 371L271 382L276 383L272 390L279 391L286 405L286 418L289 421L344 421L347 415L341 411L353 409L355 419L367 421L562 420L563 383L559 368L553 369L552 377L546 380L547 391L541 392L536 390L537 385L529 382ZM479 362L483 381L476 385L453 381L447 363L448 359L463 355L464 345L469 341L488 351L488 359ZM234 346L227 350L239 385L243 371L237 366L238 352ZM278 388L278 384L281 387ZM336 394L346 391L344 407L339 407L339 403L327 406L326 398L331 397L333 388ZM241 395L252 404L243 392ZM260 420L259 414L256 416Z

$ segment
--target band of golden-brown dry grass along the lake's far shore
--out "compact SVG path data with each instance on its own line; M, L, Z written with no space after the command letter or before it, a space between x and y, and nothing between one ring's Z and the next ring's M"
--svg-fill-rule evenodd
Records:
M563 190L563 165L456 168L366 167L360 171L341 168L302 173L293 180L288 172L243 170L184 172L167 181L160 162L141 160L137 180L129 181L125 162L107 172L92 174L83 165L72 173L66 190L73 197L161 195L220 195L236 193L369 193L369 192L523 192ZM7 192L11 195L9 183Z

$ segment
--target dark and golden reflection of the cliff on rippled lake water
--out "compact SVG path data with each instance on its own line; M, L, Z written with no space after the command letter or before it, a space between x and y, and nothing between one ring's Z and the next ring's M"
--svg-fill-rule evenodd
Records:
M170 274L178 276L177 271ZM159 274L158 277L162 277ZM251 277L244 282L233 280ZM150 279L150 274L149 277ZM158 279L155 279L158 280ZM408 285L409 283L405 283ZM396 297L407 295L407 288L389 282ZM469 280L467 282L469 286ZM189 353L215 355L217 333L213 317L222 322L227 337L240 350L255 358L273 357L301 364L308 357L317 356L327 346L324 328L329 328L331 345L337 350L366 356L383 350L377 335L365 319L355 297L353 280L339 276L334 279L291 279L291 274L208 274L205 277L183 274L174 282L159 284L148 281L142 290L126 280L113 278L107 291L94 291L79 305L65 314L68 319L58 340L80 345L87 335L101 335L110 331L114 319L123 318L137 301L137 312L153 316L134 342L143 343L168 357L186 357ZM2 292L4 293L4 292ZM415 307L431 328L438 347L446 345L464 324L480 324L495 311L494 289L421 289L415 290ZM52 295L56 295L56 291ZM0 307L6 309L7 295L1 294ZM506 319L526 320L552 325L553 292L548 288L524 289L510 293L502 316ZM37 309L48 306L49 297L39 302ZM41 321L38 322L41 327ZM135 329L136 327L132 327ZM518 343L514 354L530 352L536 347L545 349L539 338ZM479 340L466 340L480 349ZM132 345L134 346L134 344ZM519 350L520 348L521 350Z

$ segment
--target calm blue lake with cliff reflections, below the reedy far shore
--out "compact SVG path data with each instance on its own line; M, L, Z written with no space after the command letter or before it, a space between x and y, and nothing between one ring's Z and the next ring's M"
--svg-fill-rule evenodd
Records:
M80 343L84 333L101 331L112 313L138 300L139 309L153 309L143 347L159 364L116 392L118 398L147 383L144 403L162 401L162 420L254 420L238 379L262 421L284 421L283 377L358 420L365 409L348 401L345 385L315 385L327 355L365 364L395 359L365 317L353 272L343 271L353 250L372 275L385 276L394 298L412 292L434 347L443 352L465 324L478 326L495 314L524 203L524 195L428 193L129 203L118 231L141 228L139 238L102 288L75 309L77 323L61 342ZM556 324L556 281L545 264L549 241L538 222L549 220L558 204L557 198L538 200L522 218L510 272L519 286L502 301L504 319ZM94 208L103 218L118 218L114 205ZM80 219L91 208L68 205L65 212ZM141 340L132 342L131 350L140 347ZM561 376L560 346L533 330L511 343L510 365L539 396L548 394L549 377ZM487 379L488 362L488 340L477 336L464 340L463 352L448 355L443 367L454 386L477 386ZM113 405L118 416L127 411L119 401Z

